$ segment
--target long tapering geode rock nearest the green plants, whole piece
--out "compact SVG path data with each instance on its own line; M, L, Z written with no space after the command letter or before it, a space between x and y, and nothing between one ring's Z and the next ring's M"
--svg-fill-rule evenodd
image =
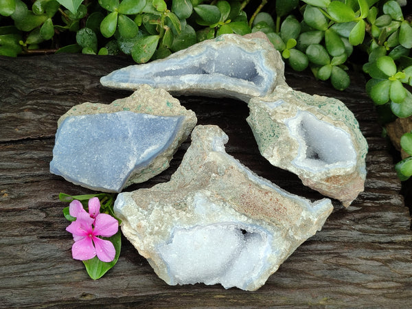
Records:
M285 84L284 62L262 32L223 34L144 65L131 65L100 79L107 87L150 84L176 95L230 97L248 102Z

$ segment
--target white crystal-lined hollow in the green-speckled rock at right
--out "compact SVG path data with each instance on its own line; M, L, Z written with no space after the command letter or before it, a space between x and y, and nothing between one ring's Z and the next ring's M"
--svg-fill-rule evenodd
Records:
M356 165L356 152L350 135L341 128L323 122L311 113L298 111L285 122L290 135L299 142L299 154L293 163L312 172Z

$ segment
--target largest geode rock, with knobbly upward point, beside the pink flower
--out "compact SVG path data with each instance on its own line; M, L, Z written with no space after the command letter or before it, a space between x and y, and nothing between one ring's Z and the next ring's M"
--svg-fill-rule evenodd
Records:
M225 152L218 126L196 126L168 183L123 192L122 232L168 284L256 290L332 211L257 176Z

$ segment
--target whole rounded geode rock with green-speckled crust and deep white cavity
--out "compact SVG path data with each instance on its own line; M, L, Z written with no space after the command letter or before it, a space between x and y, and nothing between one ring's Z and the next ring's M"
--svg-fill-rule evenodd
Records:
M367 142L343 102L279 86L249 102L260 153L348 207L363 191Z

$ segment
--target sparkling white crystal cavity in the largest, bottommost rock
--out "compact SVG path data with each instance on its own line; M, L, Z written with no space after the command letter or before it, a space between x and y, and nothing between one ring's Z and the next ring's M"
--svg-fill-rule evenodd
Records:
M171 284L217 284L246 288L266 270L271 234L261 227L222 222L174 229L159 247ZM265 269L264 269L265 268Z

